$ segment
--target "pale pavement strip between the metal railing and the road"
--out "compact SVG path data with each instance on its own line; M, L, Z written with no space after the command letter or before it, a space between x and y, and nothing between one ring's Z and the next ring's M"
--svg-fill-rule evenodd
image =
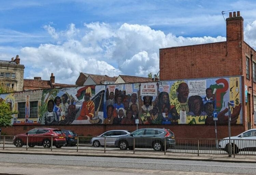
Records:
M199 160L218 162L255 163L256 155L232 155L227 154L190 154L166 152L142 152L142 151L104 151L101 150L67 150L67 149L39 149L39 148L4 148L0 153L8 154L37 154L37 155L63 155L63 156L97 156L97 157L122 157L122 158L150 158L150 159L173 159L173 160Z

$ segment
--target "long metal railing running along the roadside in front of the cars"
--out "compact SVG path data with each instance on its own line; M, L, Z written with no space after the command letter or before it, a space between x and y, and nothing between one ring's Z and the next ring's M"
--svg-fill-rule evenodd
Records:
M65 137L65 136L64 136ZM256 140L252 139L190 139L190 138L143 138L130 137L82 137L58 140L59 136L0 136L0 148L65 149L97 151L131 151L133 153L159 151L189 154L256 155ZM64 146L65 145L65 146ZM230 150L231 148L231 150Z

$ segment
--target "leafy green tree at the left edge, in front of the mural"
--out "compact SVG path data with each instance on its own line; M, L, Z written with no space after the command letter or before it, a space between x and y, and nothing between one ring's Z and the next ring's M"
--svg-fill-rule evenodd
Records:
M10 105L0 102L0 127L11 126L12 114L17 113L10 110Z

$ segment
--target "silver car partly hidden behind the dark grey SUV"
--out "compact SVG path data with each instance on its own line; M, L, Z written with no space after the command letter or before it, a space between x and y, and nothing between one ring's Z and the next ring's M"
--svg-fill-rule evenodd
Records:
M129 135L131 132L128 130L110 130L97 137L93 137L90 143L94 147L104 146L106 140L106 146L114 146L115 140L120 136Z

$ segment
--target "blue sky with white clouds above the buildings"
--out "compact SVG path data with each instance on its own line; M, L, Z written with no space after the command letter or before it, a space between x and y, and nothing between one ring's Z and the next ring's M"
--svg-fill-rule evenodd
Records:
M229 11L256 50L255 0L0 0L0 60L19 55L24 78L64 84L80 72L147 77L160 48L226 41Z

